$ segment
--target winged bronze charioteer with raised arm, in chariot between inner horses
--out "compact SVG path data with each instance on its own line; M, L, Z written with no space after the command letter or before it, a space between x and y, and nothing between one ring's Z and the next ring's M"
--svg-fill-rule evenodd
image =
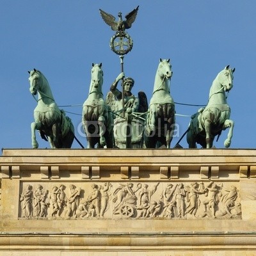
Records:
M139 92L138 96L132 94L134 80L131 77L124 77L124 72L116 77L106 97L106 102L115 116L115 147L141 148L144 130L144 119L141 115L147 111L147 97L143 92ZM123 79L124 92L121 92L117 86Z

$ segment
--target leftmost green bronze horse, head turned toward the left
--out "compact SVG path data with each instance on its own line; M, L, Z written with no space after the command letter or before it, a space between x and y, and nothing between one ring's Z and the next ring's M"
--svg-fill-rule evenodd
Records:
M51 148L70 148L75 136L71 119L58 108L44 74L35 68L29 74L29 90L33 96L38 93L35 122L31 123L32 147L38 148L35 134L38 130L40 136L49 141Z

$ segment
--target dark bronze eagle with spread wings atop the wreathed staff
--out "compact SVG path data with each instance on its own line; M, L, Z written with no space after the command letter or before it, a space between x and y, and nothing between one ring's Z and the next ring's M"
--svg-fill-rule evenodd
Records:
M106 24L111 26L112 30L122 33L125 31L125 29L131 28L132 23L136 19L138 10L139 10L139 6L136 9L132 10L132 12L125 15L126 20L122 19L122 12L119 12L118 13L119 20L117 22L115 21L115 17L113 15L106 13L102 10L100 10L100 15L104 20L104 22L106 22Z

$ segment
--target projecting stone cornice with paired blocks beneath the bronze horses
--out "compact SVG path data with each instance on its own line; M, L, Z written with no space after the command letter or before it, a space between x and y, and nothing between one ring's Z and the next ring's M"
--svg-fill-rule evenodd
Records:
M3 178L38 171L42 178L61 176L63 170L81 172L82 179L100 178L100 172L119 172L122 179L156 172L161 179L177 179L180 172L199 172L202 179L219 178L220 172L255 177L254 149L3 149Z

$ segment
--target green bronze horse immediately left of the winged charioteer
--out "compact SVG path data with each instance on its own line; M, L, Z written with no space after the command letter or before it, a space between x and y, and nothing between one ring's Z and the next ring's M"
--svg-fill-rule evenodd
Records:
M92 64L92 79L88 98L83 104L83 128L86 133L87 148L113 148L113 116L103 99L102 64Z

